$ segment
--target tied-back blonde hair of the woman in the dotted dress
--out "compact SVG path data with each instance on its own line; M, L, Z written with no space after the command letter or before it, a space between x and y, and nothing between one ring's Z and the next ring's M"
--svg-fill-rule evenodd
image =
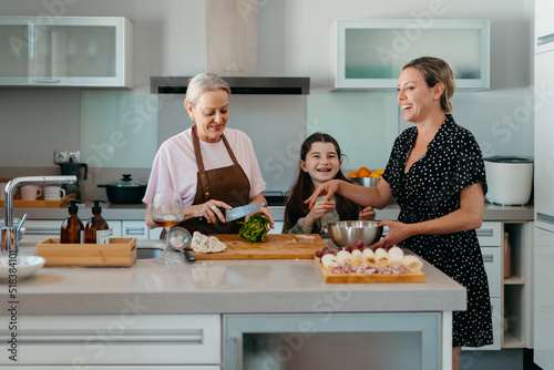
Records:
M402 66L402 71L407 68L414 68L423 74L423 79L429 88L433 88L438 83L444 85L444 91L441 95L441 109L444 113L449 113L453 109L450 101L455 90L454 73L450 65L439 58L421 56L410 61Z

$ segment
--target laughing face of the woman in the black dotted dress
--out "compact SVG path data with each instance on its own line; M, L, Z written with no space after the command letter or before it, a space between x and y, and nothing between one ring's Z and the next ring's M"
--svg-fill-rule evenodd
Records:
M407 68L398 79L398 104L402 109L404 121L418 123L429 116L439 103L437 89L429 88L423 74L414 68Z

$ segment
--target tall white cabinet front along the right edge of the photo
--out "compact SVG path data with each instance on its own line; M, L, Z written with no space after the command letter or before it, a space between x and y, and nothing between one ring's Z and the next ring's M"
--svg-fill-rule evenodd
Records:
M554 369L554 2L535 0L534 362Z

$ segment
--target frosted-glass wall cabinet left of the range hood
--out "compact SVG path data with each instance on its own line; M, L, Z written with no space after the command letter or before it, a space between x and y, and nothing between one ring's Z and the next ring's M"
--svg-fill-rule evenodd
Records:
M0 86L132 88L121 17L0 18Z

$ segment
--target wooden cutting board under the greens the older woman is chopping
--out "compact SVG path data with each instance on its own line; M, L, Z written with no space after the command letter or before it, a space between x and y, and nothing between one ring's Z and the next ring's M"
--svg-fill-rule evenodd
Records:
M222 253L196 253L196 259L311 259L327 247L317 234L268 234L261 243L248 243L237 234L215 235L227 246Z

